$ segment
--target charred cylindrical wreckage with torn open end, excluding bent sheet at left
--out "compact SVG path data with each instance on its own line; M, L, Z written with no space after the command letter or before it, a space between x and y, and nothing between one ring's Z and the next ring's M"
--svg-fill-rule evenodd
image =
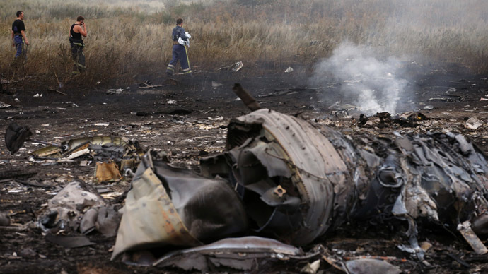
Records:
M409 236L414 237L415 218L455 227L487 208L486 159L460 134L344 136L268 109L233 119L228 129L228 152L202 160L202 173L228 178L248 205L257 231L293 244L311 242L347 220L383 220L388 215L408 220ZM284 163L296 189L286 185ZM286 218L267 222L275 218L274 210L252 211L255 201L246 198L246 191L264 201L277 185L286 190L283 201L300 198L301 215L287 211ZM310 199L310 193L321 196ZM263 215L265 221L259 219ZM284 230L279 225L262 230L260 225L280 222ZM300 225L291 227L289 222Z

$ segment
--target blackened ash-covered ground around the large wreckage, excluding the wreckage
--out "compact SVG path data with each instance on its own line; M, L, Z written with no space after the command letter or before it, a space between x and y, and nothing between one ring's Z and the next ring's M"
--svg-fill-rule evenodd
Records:
M391 136L393 131L453 131L465 134L487 152L488 101L480 101L480 98L488 98L486 76L475 75L454 64L420 66L407 63L405 66L408 68L408 85L405 95L399 99L397 112L422 112L430 118L418 121L418 126L390 123L360 127L357 120L361 111L350 109L350 106L349 109L341 107L342 104L356 105L353 97L339 92L341 85L346 83L331 80L327 85L311 86L305 69L301 68L292 73L283 73L284 69L255 73L243 68L237 73L199 72L190 80L181 76L177 77L177 85L152 89L141 89L138 84L130 85L129 89L127 85L90 90L66 88L62 92L67 95L62 95L47 91L47 86L28 81L4 85L8 90L16 90L16 95L0 95L1 102L12 105L0 109L0 129L5 130L8 124L16 121L21 126L28 126L35 133L35 138L53 143L81 136L124 136L139 141L146 149L167 153L173 165L198 171L200 157L223 151L228 121L249 112L231 90L234 83L241 83L263 108L298 114L303 119L327 124L344 134L367 132ZM139 80L143 82L148 78L154 85L166 83L165 79L156 76ZM22 85L25 85L25 90ZM107 90L110 88L124 90L109 95ZM34 97L37 93L42 97ZM337 101L340 103L331 107ZM190 113L181 114L182 109ZM471 117L477 117L482 126L468 129L465 124ZM26 142L16 155L10 155L4 141L0 142L0 172L20 169L35 173L29 179L0 180L0 213L11 215L11 225L0 227L1 273L178 273L171 268L144 268L127 266L119 260L110 261L115 237L89 234L88 238L95 245L76 249L65 249L47 242L35 222L45 203L66 184L79 178L95 187L108 189L109 192L103 196L115 203L123 202L122 193L129 189L130 178L97 183L94 162L81 166L76 160L28 160L29 153L41 147ZM45 187L30 186L25 181L35 181ZM399 226L407 227L406 224ZM302 248L308 251L315 244L323 244L345 256L410 259L409 253L396 247L407 242L405 230L398 229L399 226L393 227L388 220L383 224L352 225L330 232ZM426 252L426 260L433 267L427 269L417 263L401 261L393 261L393 264L410 273L488 272L488 257L475 254L460 234L428 224L421 227L419 242L432 244ZM310 262L315 259L310 259ZM265 263L257 272L296 273L305 263ZM324 273L341 273L325 261L320 269Z

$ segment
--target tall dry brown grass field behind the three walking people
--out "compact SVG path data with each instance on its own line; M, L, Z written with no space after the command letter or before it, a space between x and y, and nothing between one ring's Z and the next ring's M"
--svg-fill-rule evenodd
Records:
M68 30L86 17L88 71L76 81L130 82L164 73L170 31L185 18L192 33L190 63L211 70L242 60L246 68L297 61L312 67L344 40L384 56L448 61L488 72L488 2L480 0L4 0L0 2L0 69L12 60L10 28L25 12L31 43L26 73L70 80ZM413 56L413 57L412 57Z

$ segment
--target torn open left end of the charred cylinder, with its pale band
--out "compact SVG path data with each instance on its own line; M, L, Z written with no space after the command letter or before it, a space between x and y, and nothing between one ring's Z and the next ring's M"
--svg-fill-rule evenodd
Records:
M248 186L264 179L272 188L286 190L281 203L267 203L267 212L262 207L247 210L258 230L297 245L308 244L323 234L330 226L335 192L342 191L347 181L347 166L332 143L308 122L269 109L233 119L228 129L231 158L249 151L259 161L255 166L260 167L250 170L253 167L243 157L236 158L236 184ZM205 162L202 169L208 169ZM255 178L245 178L250 173ZM294 208L289 206L292 198L299 199L291 202L298 204ZM243 199L250 204L245 193Z

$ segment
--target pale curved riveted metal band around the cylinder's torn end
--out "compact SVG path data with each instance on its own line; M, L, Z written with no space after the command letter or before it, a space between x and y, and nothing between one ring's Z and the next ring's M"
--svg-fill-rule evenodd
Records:
M291 180L300 193L303 221L298 230L285 239L303 245L316 239L330 226L335 192L347 181L347 166L330 141L307 121L269 109L260 109L233 119L229 125L228 144L235 143L244 129L261 125L260 132L270 143L282 149L277 159L284 160L292 172ZM267 162L262 165L268 167ZM270 164L271 165L271 164Z

